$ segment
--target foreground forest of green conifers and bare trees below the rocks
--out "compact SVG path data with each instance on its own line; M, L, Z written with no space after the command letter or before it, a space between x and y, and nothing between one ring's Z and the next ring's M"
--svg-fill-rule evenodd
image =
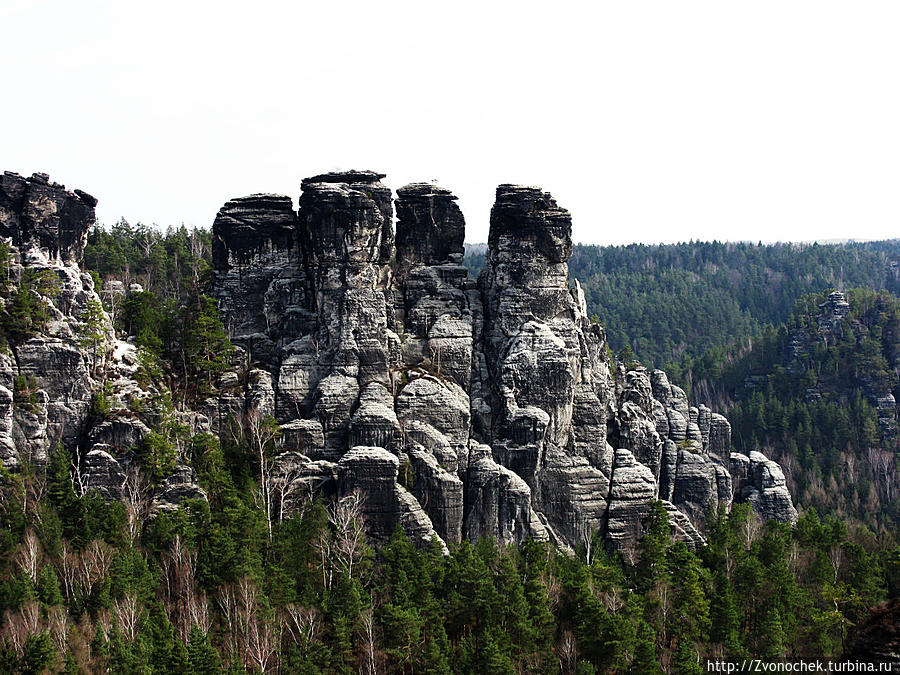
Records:
M490 540L445 557L399 531L376 552L352 498L269 536L252 458L208 436L190 452L209 503L146 527L134 505L77 496L61 451L46 482L5 481L4 672L688 675L703 658L840 656L900 591L895 541L815 511L792 527L736 506L695 554L657 505L629 560Z

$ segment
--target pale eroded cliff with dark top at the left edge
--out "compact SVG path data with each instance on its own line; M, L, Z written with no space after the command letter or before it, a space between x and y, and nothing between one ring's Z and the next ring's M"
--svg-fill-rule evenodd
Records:
M45 174L0 177L0 239L8 246L2 302L27 295L46 317L28 330L8 326L20 335L0 348L0 460L7 468L27 463L40 470L62 447L79 492L146 496L148 508L176 509L186 497L204 497L183 457L152 490L129 482L134 451L150 433L134 410L159 392L138 384L134 346L116 339L91 275L79 267L96 204ZM147 407L148 419L159 415Z

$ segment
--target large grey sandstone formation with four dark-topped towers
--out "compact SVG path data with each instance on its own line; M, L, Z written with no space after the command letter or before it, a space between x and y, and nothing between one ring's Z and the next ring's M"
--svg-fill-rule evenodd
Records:
M710 505L742 499L796 518L775 467L732 481L743 465L724 417L692 407L662 371L610 361L569 278L571 218L549 194L497 189L476 283L453 194L416 183L392 206L382 178L305 179L294 236L287 197L229 202L214 224L212 287L250 367L271 374L283 450L336 462L326 489L365 493L376 537L399 524L450 543L575 546L597 532L627 547L654 499L691 546ZM236 226L251 203L252 222ZM245 227L258 235L249 256ZM236 295L247 288L237 264L252 302Z

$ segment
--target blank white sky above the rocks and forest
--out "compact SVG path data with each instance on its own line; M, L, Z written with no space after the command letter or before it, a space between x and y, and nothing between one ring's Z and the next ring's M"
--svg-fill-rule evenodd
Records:
M900 236L900 3L0 0L0 170L208 226L347 168L596 243Z

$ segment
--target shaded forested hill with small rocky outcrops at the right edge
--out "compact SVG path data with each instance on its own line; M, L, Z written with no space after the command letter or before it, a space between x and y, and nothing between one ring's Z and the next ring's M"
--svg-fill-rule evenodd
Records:
M813 294L694 389L733 403L735 447L775 457L800 504L896 530L898 356L895 296Z

